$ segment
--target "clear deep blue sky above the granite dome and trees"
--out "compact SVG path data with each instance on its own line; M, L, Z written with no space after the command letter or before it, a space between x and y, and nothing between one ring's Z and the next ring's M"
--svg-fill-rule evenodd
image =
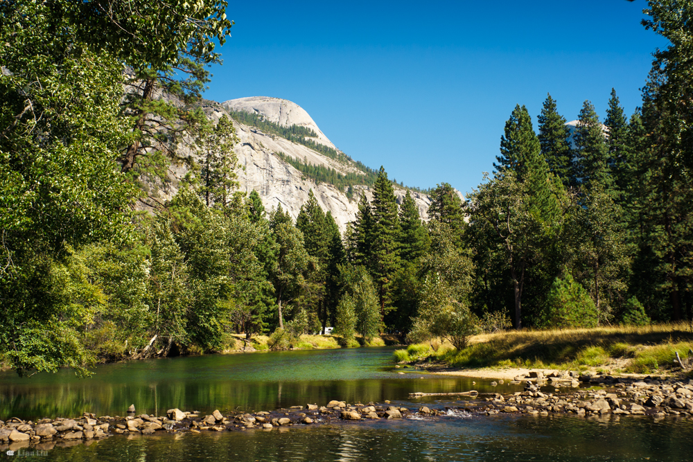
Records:
M236 21L206 98L286 98L338 148L410 186L468 192L491 171L516 104L547 92L568 121L640 103L644 0L229 1Z

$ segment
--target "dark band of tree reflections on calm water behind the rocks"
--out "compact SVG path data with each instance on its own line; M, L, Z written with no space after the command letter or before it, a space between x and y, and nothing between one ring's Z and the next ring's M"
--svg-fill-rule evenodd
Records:
M220 409L272 411L279 407L330 400L382 402L405 400L408 393L448 393L469 386L459 380L338 380L329 382L206 382L204 380L107 384L82 381L37 386L0 387L0 416L26 418L79 416L89 411L98 415L125 415L135 405L138 413L161 415L178 407L202 412ZM478 389L478 388L477 388ZM500 391L500 390L499 390ZM505 389L503 390L505 391Z

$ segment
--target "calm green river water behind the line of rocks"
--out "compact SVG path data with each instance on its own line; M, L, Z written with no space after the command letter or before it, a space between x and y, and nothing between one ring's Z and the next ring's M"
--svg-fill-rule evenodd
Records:
M358 348L106 364L83 380L67 370L28 379L2 373L0 418L78 416L85 411L124 415L131 404L138 412L159 416L173 407L260 411L333 399L404 400L416 391L498 391L490 381L478 379L473 385L463 377L416 371L399 375L391 358L392 348ZM518 390L502 387L506 393Z

